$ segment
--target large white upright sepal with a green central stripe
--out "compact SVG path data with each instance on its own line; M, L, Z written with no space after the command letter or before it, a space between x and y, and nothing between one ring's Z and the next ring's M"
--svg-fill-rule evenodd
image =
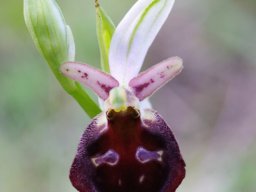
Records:
M110 45L113 77L127 85L141 69L147 50L164 24L174 0L138 0L117 26Z

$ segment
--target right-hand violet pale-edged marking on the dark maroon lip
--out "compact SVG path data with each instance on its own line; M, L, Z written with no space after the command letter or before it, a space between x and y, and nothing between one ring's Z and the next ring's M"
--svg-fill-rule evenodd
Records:
M140 163L147 163L150 161L162 161L162 155L163 155L163 151L149 151L143 147L138 147L137 151L136 151L136 159L140 162Z

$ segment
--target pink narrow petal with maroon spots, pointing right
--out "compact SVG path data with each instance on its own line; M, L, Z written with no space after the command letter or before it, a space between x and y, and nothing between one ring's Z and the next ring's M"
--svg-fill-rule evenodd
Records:
M141 101L173 79L182 69L182 60L172 57L140 73L130 81L129 86Z

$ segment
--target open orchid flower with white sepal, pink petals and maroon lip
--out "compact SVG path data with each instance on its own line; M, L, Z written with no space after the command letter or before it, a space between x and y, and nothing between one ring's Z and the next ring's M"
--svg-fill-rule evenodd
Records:
M85 130L71 167L78 191L174 192L183 180L185 163L170 128L142 104L181 72L182 60L169 58L138 74L173 4L135 3L113 34L110 74L73 61L61 66L65 76L103 100L103 111Z

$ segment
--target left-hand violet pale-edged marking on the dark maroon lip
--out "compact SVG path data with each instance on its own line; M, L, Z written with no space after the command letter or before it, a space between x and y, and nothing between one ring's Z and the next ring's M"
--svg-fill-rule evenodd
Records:
M91 160L96 167L98 167L102 164L115 166L115 165L117 165L119 158L120 157L119 157L118 153L116 153L114 150L108 150L103 155L91 158Z

